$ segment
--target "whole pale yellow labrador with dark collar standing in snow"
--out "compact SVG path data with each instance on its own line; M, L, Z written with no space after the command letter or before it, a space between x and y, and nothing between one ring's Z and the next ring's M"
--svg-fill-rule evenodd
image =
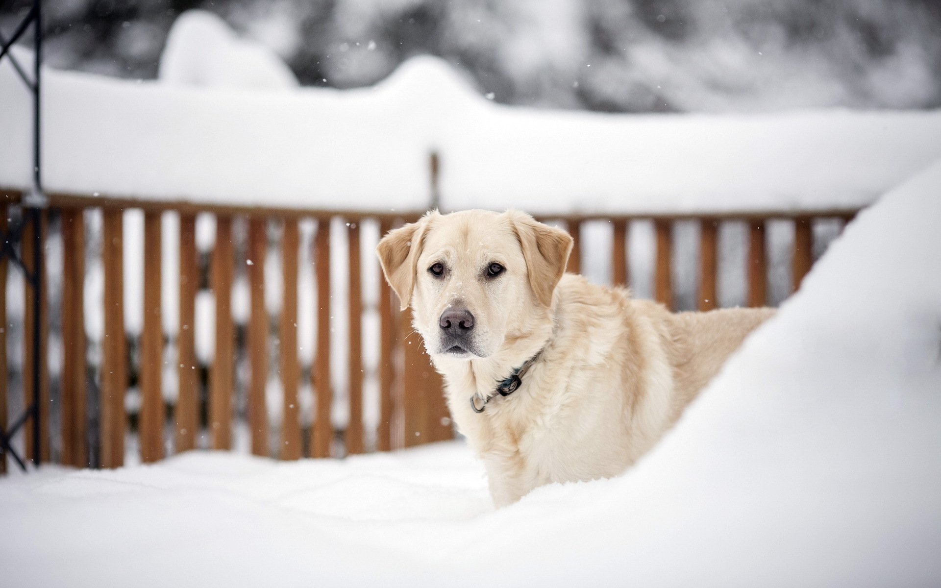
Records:
M498 506L623 472L773 312L672 313L566 274L571 248L530 215L466 211L376 249Z

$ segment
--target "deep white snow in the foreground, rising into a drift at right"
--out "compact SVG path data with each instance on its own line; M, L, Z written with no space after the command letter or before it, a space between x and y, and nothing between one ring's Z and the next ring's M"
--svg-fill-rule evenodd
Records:
M939 191L859 215L621 478L494 512L458 443L44 469L0 480L5 585L937 585Z

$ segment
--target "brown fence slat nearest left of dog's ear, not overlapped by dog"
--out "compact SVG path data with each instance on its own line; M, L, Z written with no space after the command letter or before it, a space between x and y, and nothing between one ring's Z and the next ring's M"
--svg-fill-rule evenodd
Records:
M437 159L435 160L437 161ZM346 231L349 243L349 424L346 453L363 453L362 435L362 288L360 286L359 223Z

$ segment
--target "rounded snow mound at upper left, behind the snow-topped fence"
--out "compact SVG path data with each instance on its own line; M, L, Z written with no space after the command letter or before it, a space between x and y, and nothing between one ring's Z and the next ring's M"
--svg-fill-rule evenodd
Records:
M293 88L294 72L262 43L238 38L206 10L187 10L173 22L158 77L177 86Z

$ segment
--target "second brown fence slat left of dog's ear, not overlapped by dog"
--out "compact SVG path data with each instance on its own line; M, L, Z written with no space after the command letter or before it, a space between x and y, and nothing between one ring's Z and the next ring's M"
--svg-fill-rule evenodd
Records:
M313 263L317 276L317 357L314 361L313 386L316 412L311 430L311 457L328 457L333 440L330 424L330 218L317 219Z

